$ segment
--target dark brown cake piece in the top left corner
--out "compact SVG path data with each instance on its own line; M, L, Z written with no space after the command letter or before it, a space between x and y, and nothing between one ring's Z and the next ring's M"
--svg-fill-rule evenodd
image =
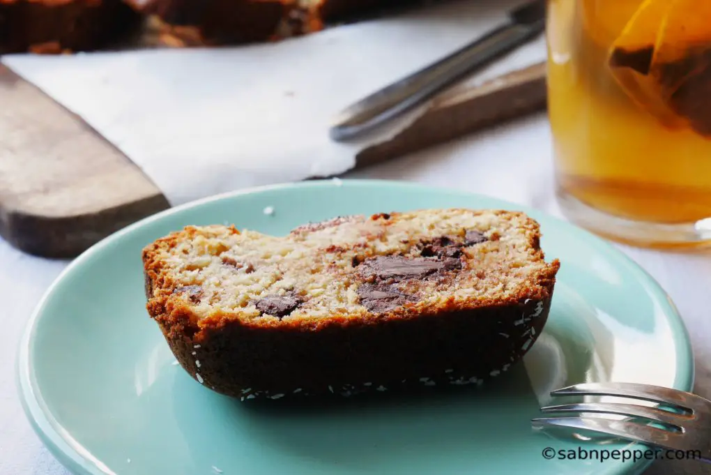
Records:
M124 0L0 0L0 53L95 50L138 26Z

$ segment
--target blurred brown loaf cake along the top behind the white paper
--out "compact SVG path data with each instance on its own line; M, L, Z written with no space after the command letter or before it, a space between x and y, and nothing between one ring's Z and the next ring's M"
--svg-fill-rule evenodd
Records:
M0 54L274 41L424 0L0 0ZM137 33L135 36L130 36ZM128 43L128 44L127 44Z

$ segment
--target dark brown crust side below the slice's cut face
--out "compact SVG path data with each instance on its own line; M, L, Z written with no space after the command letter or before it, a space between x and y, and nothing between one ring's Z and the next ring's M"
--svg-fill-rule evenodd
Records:
M520 362L550 311L542 299L385 321L328 322L316 330L226 321L194 333L159 324L182 367L240 400L351 396L410 386L482 384ZM197 338L196 338L197 337Z

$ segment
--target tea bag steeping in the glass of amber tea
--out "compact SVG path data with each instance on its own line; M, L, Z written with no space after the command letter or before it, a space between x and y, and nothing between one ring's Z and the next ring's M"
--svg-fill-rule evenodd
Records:
M610 48L612 75L670 128L711 137L711 3L647 0Z

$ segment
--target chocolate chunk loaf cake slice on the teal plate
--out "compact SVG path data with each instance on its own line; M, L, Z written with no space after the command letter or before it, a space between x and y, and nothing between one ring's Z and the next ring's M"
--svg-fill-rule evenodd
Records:
M190 226L144 249L147 308L193 378L242 400L480 383L545 325L560 264L539 239L503 210Z

